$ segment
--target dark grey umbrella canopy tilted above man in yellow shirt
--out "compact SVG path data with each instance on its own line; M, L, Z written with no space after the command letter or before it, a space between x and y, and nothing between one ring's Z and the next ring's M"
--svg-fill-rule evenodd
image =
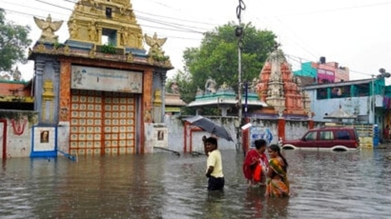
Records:
M188 121L192 125L202 128L206 132L209 132L213 135L224 138L227 141L233 141L231 135L227 132L227 130L223 126L221 126L218 123L215 123L214 121L208 118L202 116L192 116L184 120Z

